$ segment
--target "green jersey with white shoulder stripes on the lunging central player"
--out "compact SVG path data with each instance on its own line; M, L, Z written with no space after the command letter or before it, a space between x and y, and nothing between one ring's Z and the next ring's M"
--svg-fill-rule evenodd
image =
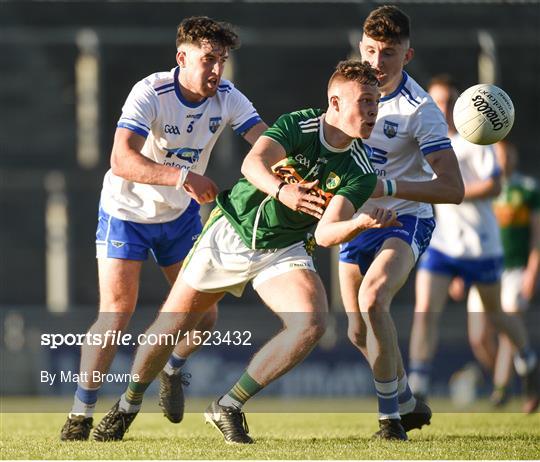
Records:
M324 112L305 109L281 116L263 136L277 141L287 157L273 166L287 183L319 180L317 191L329 200L345 196L359 208L371 195L377 177L362 141L345 149L330 146L323 134ZM295 212L258 190L245 178L230 191L220 193L218 206L252 249L284 248L306 239L317 219Z

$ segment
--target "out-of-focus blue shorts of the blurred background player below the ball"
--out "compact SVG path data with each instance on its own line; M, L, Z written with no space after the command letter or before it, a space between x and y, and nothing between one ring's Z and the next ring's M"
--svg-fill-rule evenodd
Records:
M453 258L429 248L418 264L420 269L431 273L461 277L467 286L475 283L493 284L501 280L503 257Z

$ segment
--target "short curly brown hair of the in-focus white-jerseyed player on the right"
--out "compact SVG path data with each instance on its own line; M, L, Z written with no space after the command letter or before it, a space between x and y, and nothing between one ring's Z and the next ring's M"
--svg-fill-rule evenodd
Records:
M397 6L385 5L373 10L364 22L364 34L385 43L401 43L410 37L411 20Z

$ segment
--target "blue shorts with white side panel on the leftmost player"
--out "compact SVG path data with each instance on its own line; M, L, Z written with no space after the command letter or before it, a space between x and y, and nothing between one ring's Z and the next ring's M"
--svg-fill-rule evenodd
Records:
M182 261L202 229L200 206L194 200L176 220L135 223L114 218L99 208L96 231L97 258L146 260L148 251L160 266Z

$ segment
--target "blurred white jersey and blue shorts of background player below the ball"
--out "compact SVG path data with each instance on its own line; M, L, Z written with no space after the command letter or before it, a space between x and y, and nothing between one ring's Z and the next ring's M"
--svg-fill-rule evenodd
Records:
M501 170L491 146L469 143L458 134L452 145L465 188L497 177ZM503 271L503 248L491 198L459 205L436 204L437 228L419 267L432 273L460 276L467 285L492 284Z

